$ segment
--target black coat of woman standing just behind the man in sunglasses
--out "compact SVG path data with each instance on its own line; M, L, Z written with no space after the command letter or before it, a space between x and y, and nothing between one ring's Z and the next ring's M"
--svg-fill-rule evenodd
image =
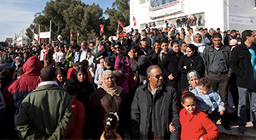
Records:
M167 79L167 84L174 87L177 90L177 82L180 81L180 72L177 69L178 61L180 57L183 56L182 52L174 53L173 51L169 51L166 54L165 59L162 60L161 65L163 68L163 72ZM169 80L168 76L174 77L172 81Z

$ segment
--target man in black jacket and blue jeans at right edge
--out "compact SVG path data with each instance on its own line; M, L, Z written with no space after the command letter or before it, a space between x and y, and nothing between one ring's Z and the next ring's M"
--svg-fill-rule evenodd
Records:
M241 45L233 49L230 67L236 74L238 87L238 132L243 134L247 123L247 99L250 103L250 114L253 127L256 128L256 47L253 31L243 31Z

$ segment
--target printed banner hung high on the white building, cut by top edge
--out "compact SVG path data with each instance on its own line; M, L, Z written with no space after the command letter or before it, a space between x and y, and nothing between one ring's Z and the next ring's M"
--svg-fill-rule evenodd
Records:
M182 11L182 0L150 0L149 16L159 17Z

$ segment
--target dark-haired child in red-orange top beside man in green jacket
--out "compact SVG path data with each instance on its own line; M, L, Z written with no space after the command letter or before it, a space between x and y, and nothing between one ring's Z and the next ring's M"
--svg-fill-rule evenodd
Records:
M75 83L73 80L67 81L64 84L64 90L69 94L72 102L73 120L65 139L83 139L84 138L84 121L85 110L84 104L75 99L77 96Z

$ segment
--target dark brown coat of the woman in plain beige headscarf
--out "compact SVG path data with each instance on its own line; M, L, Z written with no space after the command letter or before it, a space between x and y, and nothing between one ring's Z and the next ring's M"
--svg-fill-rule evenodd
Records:
M105 92L103 88L98 88L92 93L88 110L86 111L86 127L88 134L85 134L86 139L100 139L104 130L104 118L109 112L117 112L119 116L119 127L117 133L122 137L124 136L124 122L126 109L125 93L121 92L119 96L113 97Z

